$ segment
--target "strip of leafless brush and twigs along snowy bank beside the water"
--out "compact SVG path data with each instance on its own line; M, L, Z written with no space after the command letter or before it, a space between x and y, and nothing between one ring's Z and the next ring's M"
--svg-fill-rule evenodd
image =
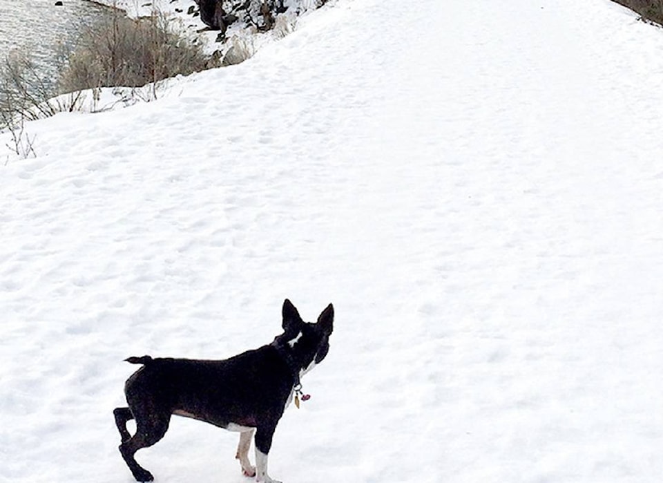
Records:
M0 132L22 129L23 122L59 112L82 110L102 87L135 89L142 100L156 97L160 82L220 65L204 44L184 33L180 23L161 12L134 20L113 10L84 28L70 53L64 54L57 86L44 82L29 50L17 50L0 61ZM88 91L87 93L85 91ZM32 152L32 150L30 149Z

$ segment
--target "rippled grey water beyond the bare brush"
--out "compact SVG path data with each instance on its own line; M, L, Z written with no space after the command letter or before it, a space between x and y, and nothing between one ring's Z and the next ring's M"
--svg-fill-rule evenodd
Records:
M108 9L86 0L0 0L0 61L13 50L25 50L46 85L57 84L57 65L85 26Z

